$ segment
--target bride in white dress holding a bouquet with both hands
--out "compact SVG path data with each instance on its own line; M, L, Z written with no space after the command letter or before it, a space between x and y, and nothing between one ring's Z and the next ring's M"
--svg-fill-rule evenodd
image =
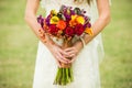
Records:
M43 29L35 15L40 3L46 10L46 15L52 9L58 10L62 4L85 9L91 19L94 35L85 34L66 50L58 46L61 41L52 40L46 34L42 38L38 30ZM25 21L40 38L33 88L100 88L98 65L100 53L103 53L100 32L110 22L109 0L28 0ZM98 51L99 47L101 51ZM66 56L73 59L67 61ZM67 86L53 85L61 63L73 64L74 81Z

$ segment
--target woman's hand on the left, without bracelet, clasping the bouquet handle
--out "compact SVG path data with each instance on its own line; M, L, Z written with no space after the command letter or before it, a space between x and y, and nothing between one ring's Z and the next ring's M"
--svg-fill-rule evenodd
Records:
M64 57L64 55L67 55L67 53L64 50L62 50L58 45L50 44L48 48L53 56L55 57L59 67L62 67L61 63L67 64L69 62L69 59Z

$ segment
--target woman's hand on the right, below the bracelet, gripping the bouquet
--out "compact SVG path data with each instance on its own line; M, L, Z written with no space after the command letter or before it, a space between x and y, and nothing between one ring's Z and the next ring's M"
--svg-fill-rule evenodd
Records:
M72 57L72 59L68 63L73 63L76 59L76 56L81 51L81 48L82 48L82 43L78 41L72 47L64 50L66 54L68 54L67 57Z

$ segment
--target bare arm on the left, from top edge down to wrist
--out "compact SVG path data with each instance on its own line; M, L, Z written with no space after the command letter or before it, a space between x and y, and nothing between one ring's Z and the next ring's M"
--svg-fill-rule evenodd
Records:
M40 0L34 0L34 1L28 0L24 19L26 23L31 26L33 32L36 34L36 36L42 41L42 43L48 46L51 45L51 40L46 34L43 33L44 31L42 26L37 23L35 16L38 4L40 4Z

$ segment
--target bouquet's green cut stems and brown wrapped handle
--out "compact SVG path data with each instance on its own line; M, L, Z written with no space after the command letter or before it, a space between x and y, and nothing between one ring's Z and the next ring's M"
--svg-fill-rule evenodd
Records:
M64 41L64 48L72 46L72 41ZM72 58L67 58L72 59ZM74 80L72 64L62 63L62 68L57 68L57 75L54 85L66 86Z

